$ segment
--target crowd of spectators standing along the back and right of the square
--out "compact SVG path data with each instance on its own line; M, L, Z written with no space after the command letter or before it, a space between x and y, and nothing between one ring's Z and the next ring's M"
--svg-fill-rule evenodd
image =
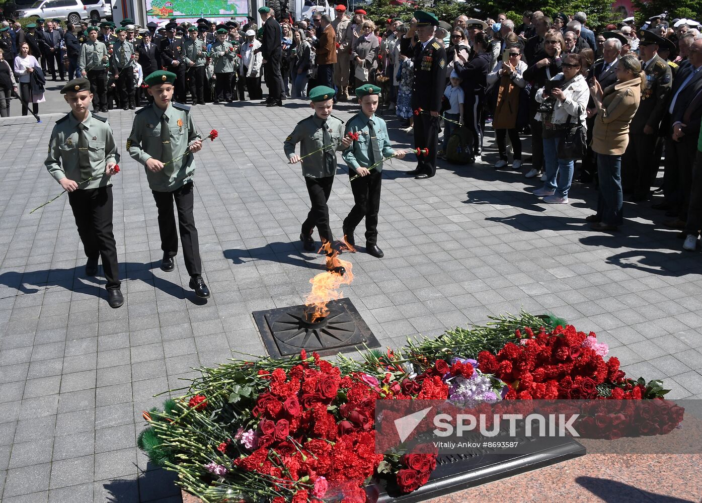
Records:
M262 79L269 107L305 98L314 86L335 88L335 100L349 100L354 88L377 84L381 107L404 120L415 147L430 149L411 172L418 179L435 174L437 158L455 157L451 136L462 131L465 163L483 161L491 123L496 169L540 177L543 187L534 194L545 203L568 203L574 181L594 181L600 203L588 220L614 231L623 223L625 198L650 199L662 162L656 189L664 199L654 208L682 231L684 248L695 249L702 227L696 188L702 175L693 169L702 116L698 22L659 16L640 29L630 19L593 30L585 13L549 18L536 11L525 12L519 25L502 13L376 25L362 9L349 13L338 5L334 13L279 22L264 6L260 27L255 18L243 26L172 20L158 29L128 19L120 27L102 22L65 30L59 20L39 19L25 29L5 21L0 114L8 114L13 92L22 98L22 114L29 103L37 114L45 76L86 77L98 112L152 100L143 81L160 69L176 74L175 99L190 105L262 100ZM530 157L522 156L527 136Z

